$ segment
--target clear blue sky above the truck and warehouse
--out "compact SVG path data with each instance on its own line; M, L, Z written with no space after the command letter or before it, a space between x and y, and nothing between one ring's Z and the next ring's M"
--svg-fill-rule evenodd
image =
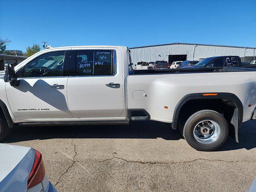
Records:
M8 49L172 42L256 46L256 0L0 0Z

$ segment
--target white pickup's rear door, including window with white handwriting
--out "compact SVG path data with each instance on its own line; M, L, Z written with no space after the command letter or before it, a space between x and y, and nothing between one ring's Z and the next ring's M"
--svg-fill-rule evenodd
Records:
M118 117L124 109L123 87L120 50L72 49L67 93L73 118Z

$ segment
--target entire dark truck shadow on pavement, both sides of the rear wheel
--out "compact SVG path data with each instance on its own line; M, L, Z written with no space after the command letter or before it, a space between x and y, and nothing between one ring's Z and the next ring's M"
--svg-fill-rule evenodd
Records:
M131 125L93 125L93 126L44 126L13 128L2 143L14 143L29 140L47 140L53 138L121 138L121 139L184 139L179 130L173 130L170 124L156 121L133 122ZM228 137L218 151L256 148L256 122L248 121L239 128L239 142Z

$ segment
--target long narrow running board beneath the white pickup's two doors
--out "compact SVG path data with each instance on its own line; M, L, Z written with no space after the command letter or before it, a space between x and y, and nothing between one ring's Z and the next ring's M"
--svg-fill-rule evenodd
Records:
M128 125L129 121L90 121L90 122L26 122L20 126L70 126L70 125Z

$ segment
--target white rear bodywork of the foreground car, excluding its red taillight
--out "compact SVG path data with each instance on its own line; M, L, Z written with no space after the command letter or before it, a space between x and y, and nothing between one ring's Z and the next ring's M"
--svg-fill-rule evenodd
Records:
M0 144L0 190L26 191L33 163L32 148Z

